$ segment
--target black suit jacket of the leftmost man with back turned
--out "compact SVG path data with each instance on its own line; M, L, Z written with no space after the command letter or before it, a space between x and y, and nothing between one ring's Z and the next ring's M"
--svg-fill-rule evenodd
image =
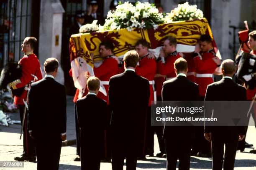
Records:
M66 132L66 90L51 77L31 85L28 105L28 130L33 136L61 135Z

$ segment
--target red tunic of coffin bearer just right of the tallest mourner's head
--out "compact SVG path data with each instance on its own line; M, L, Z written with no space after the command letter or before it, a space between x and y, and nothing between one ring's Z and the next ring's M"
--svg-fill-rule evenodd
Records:
M139 60L139 65L135 68L136 74L148 79L150 84L150 97L148 105L151 106L151 101L154 102L154 87L153 81L156 74L156 61L154 59L149 59L148 55L141 57Z

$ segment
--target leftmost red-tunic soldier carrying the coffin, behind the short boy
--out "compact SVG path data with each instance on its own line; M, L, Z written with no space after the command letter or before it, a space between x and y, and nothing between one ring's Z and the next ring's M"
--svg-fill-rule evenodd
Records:
M107 92L107 95L105 96L102 92L99 92L97 94L97 97L100 97L101 99L107 101L108 103L108 111L106 112L108 117L108 125L110 125L110 107L109 107L109 100L108 100L108 83L110 77L113 75L116 75L118 72L118 61L115 59L116 57L113 55L114 46L112 42L110 41L104 41L100 43L100 55L102 58L104 58L102 64L99 67L93 67L93 71L95 74L95 77L98 77L102 84L105 87L105 90ZM86 95L86 94L85 94ZM105 130L105 161L110 162L110 129L109 127Z

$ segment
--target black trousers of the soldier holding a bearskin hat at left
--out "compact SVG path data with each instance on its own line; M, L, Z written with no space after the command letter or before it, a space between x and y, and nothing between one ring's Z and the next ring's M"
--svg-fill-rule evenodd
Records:
M20 122L23 121L24 105L19 105ZM36 145L33 138L28 133L28 110L26 111L24 126L23 126L23 154L25 156L36 156Z

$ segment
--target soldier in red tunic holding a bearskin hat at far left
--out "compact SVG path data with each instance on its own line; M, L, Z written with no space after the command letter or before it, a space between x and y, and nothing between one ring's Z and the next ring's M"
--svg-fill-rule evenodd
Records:
M33 53L34 47L37 43L35 37L26 37L23 41L21 48L24 52L24 56L20 59L19 64L22 69L22 75L20 79L17 79L9 83L9 87L12 89L24 88L22 95L14 96L14 104L19 106L20 121L23 121L24 105L23 100L26 101L28 93L28 84L34 80L41 80L42 74L40 69L40 62L36 55ZM26 112L25 121L23 126L23 154L21 157L15 157L18 161L36 161L36 147L33 139L29 136L28 129L28 113Z

